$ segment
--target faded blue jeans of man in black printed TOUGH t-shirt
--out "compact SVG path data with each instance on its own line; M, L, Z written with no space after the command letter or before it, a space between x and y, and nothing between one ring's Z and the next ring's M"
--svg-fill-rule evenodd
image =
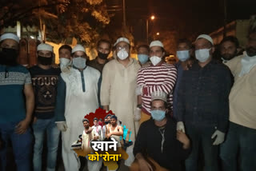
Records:
M47 134L47 171L55 170L58 140L60 131L54 123L54 118L38 119L33 124L34 130L34 171L42 170L42 146L45 133Z

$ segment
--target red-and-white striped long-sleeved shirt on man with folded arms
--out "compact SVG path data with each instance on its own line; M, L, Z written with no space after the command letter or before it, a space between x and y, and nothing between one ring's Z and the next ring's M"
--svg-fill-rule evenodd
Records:
M137 84L142 86L142 111L150 115L151 93L164 91L168 94L168 105L173 101L173 88L176 82L175 66L162 63L161 66L147 66L138 70ZM168 108L170 108L168 107Z

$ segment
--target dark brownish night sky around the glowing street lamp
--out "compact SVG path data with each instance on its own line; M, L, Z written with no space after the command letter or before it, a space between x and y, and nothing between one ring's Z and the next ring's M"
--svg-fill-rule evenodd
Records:
M108 0L114 13L110 26L122 24L122 0ZM227 22L249 19L256 14L255 0L226 0ZM114 11L113 11L114 10ZM178 32L178 38L194 39L198 34L210 34L224 24L224 0L126 0L126 21L136 41L146 39L146 18L151 34L166 30Z

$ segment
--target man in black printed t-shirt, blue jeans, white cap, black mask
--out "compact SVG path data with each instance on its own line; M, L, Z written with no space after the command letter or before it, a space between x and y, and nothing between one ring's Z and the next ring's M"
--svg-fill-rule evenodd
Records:
M34 109L34 170L42 170L42 149L44 134L47 134L48 171L55 170L60 131L55 124L54 107L57 94L59 68L52 67L53 47L41 43L37 47L38 65L30 68L35 93Z

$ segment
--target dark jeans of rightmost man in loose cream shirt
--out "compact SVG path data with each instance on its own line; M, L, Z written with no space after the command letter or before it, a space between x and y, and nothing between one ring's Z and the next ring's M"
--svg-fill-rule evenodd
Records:
M230 122L226 141L221 145L221 158L222 169L225 171L256 170L256 129Z

